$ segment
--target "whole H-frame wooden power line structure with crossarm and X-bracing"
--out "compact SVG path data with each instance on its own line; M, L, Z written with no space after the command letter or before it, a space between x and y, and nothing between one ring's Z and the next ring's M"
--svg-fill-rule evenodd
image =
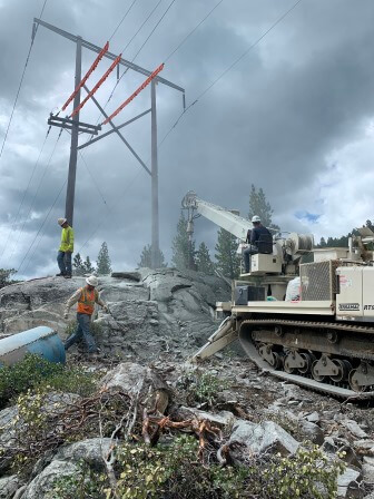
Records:
M75 88L78 87L79 82L81 81L81 51L83 49L91 50L96 53L101 53L102 48L99 46L96 46L91 43L88 40L85 40L81 37L78 37L76 35L69 33L68 31L65 31L56 26L52 26L46 21L42 21L41 19L33 19L33 32L36 30L37 26L42 26L43 28L47 28L50 31L56 32L57 35L60 35L61 37L67 38L68 40L75 42L77 45L76 49L76 77L75 77ZM109 52L108 50L102 55L104 58L110 59L111 61L116 61L119 56L116 56L112 52ZM122 57L119 58L118 65L125 66L128 69L131 69L132 71L136 71L140 75L145 75L147 77L150 77L152 75L152 71L149 71L148 69L145 69L131 61L128 61L124 59ZM117 75L118 72L117 66ZM147 172L147 174L150 176L151 180L151 265L154 268L159 266L159 255L160 255L160 248L159 248L159 213L158 213L158 162L157 162L157 112L156 112L156 84L166 85L167 87L174 88L175 90L178 90L183 95L183 106L184 109L186 108L186 101L185 101L185 89L179 87L176 84L173 84L171 81L160 77L157 75L155 79L151 80L151 87L150 87L150 100L151 105L150 108L140 112L136 117L129 119L128 121L116 126L111 120L109 121L109 125L111 126L111 130L106 131L101 134L100 136L92 138L85 144L78 145L78 133L87 133L94 135L98 135L99 131L101 131L101 126L94 126L89 124L85 124L79 121L79 112L72 116L72 119L69 118L61 118L58 116L50 116L48 124L66 128L68 130L71 130L71 146L70 146L70 160L69 160L69 174L68 174L68 186L67 186L67 198L66 198L66 212L65 216L68 219L69 224L72 225L73 222L73 203L75 203L75 187L76 187L76 173L77 173L77 156L78 150L82 149L83 147L87 147L98 140L101 140L102 138L107 137L108 135L116 133L118 137L121 139L121 141L125 144L125 146L129 149L129 151L132 154L132 156L138 160L138 163L141 165L141 167ZM82 88L88 92L88 88L85 85ZM91 97L91 100L94 104L100 109L100 112L108 118L108 115L105 112L100 104L95 99L95 97ZM77 92L77 95L73 98L73 109L76 109L80 105L80 89ZM145 164L145 162L140 158L140 156L136 153L136 150L130 146L130 144L126 140L122 133L119 131L125 126L129 125L130 123L141 118L142 116L147 115L148 112L151 114L151 168L149 169L148 166Z

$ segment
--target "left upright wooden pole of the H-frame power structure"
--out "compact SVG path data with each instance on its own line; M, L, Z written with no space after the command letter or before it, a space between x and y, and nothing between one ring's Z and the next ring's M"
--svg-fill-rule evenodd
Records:
M78 87L80 79L81 79L81 38L77 37L75 88ZM73 109L76 109L79 105L80 105L80 89L75 96ZM73 222L73 204L76 193L77 156L78 156L79 112L72 117L72 121L73 124L71 128L68 186L67 186L67 197L65 205L65 217L67 218L68 224L70 226L72 226Z

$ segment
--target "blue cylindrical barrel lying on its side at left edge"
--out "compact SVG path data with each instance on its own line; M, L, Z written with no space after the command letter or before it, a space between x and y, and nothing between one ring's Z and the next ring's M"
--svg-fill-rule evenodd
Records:
M0 340L0 368L16 364L27 353L38 354L55 363L65 363L66 360L63 344L57 332L39 326Z

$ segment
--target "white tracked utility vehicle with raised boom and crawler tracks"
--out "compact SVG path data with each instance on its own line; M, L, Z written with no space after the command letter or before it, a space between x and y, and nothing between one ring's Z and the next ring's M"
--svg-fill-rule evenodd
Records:
M203 215L246 239L250 221L187 193L188 233ZM374 232L358 228L348 247L314 248L312 235L274 234L258 244L250 272L218 302L218 330L195 355L201 361L239 340L262 369L337 397L374 398ZM309 263L302 263L313 254Z

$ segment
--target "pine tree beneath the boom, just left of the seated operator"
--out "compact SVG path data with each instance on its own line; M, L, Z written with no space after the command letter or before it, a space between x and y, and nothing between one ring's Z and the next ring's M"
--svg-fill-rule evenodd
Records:
M233 234L220 228L216 244L217 268L227 277L236 278L240 273L240 258L237 255L237 241Z

